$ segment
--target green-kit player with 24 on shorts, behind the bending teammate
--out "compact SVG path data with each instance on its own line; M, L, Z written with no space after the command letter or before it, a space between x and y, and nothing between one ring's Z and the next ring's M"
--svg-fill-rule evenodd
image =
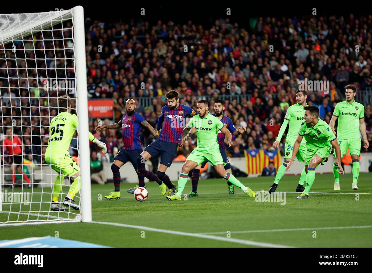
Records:
M282 126L280 127L278 137L276 138L276 141L273 143L273 148L276 149L279 147L280 139L282 139L283 133L285 129L287 128L287 124L289 123L288 133L285 140L285 148L284 148L284 160L283 164L280 165L278 168L278 172L276 173L275 180L271 188L269 189L269 193L272 194L275 192L276 188L278 187L278 183L280 179L285 174L285 169L287 168L287 165L289 161L291 160L292 153L293 153L293 147L296 141L296 138L298 136L298 129L301 126L301 124L304 122L304 107L307 106L306 104L307 99L307 93L303 90L297 90L296 91L296 100L297 103L294 105L289 106L287 113L284 117L284 121ZM297 153L297 160L299 162L304 162L306 157L306 139L303 138L300 144L300 147L298 149ZM304 191L304 183L306 181L306 170L305 168L301 172L300 180L298 181L298 185L296 188L296 192L303 192Z

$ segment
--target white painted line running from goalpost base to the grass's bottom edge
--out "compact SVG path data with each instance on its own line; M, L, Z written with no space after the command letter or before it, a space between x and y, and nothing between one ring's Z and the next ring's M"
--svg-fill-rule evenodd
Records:
M182 236L205 238L205 239L211 239L211 240L217 240L217 241L225 241L225 242L229 242L229 243L245 244L245 245L248 245L248 246L291 247L291 246L283 246L283 245L279 245L279 244L260 243L260 242L254 242L254 241L248 241L248 240L226 238L226 237L219 237L219 236L212 236L212 235L204 235L204 234L198 234L198 233L187 233L187 232L174 231L174 230L162 230L162 229L159 229L159 228L143 227L143 226L140 226L140 225L126 225L126 224L119 224L119 223L96 222L96 221L92 221L92 223L103 224L103 225L115 225L117 227L137 228L139 230L148 230L148 231L155 231L155 232L182 235ZM226 232L224 234L226 234Z

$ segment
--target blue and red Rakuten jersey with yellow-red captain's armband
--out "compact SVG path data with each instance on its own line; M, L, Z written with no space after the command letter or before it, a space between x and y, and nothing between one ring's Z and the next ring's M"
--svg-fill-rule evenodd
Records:
M180 142L183 129L186 127L186 117L195 116L196 112L187 105L180 104L175 109L169 105L161 108L161 115L158 119L157 130L160 130L159 139L167 142Z

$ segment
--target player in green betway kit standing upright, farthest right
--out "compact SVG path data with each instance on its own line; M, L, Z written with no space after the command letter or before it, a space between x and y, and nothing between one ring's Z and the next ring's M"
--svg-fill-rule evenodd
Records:
M329 125L333 133L337 136L341 149L341 158L347 153L349 149L353 162L353 182L352 188L358 189L357 182L359 177L359 156L360 156L360 133L362 133L364 147L368 148L369 143L366 134L366 124L364 122L364 106L357 103L354 98L356 96L356 87L352 84L345 86L346 101L337 103L334 108L333 116ZM337 134L334 129L334 124L338 118ZM335 154L333 153L335 157ZM337 165L339 161L334 158L333 175L334 175L334 190L340 190L339 173L337 172Z

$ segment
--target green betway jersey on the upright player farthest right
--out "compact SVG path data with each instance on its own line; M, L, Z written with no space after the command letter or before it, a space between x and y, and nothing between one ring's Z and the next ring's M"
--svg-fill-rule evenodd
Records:
M364 118L364 106L354 101L337 103L333 116L338 117L338 139L360 139L359 119Z

